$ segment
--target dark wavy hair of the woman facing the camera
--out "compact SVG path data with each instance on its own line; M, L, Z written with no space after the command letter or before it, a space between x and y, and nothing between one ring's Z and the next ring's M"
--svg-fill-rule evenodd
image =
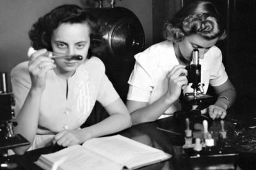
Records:
M74 4L58 6L43 17L40 17L28 33L31 46L36 50L47 49L52 51L51 37L54 29L62 23L76 24L83 22L86 22L90 27L90 49L88 51L88 58L90 58L92 55L97 54L95 49L100 45L99 25L90 13Z

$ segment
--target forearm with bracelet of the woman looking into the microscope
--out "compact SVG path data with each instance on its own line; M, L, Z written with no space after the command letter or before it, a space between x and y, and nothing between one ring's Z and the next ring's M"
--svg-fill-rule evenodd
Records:
M218 99L214 105L227 110L236 100L236 89L227 89L218 94Z

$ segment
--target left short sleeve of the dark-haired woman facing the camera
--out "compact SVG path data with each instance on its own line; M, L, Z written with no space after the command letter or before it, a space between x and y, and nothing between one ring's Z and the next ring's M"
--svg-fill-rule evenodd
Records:
M15 100L15 115L19 113L31 88L28 62L20 63L11 72L12 92Z

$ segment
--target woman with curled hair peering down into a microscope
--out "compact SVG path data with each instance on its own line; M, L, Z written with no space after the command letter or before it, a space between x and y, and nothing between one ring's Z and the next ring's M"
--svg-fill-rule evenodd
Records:
M182 8L164 27L164 42L152 45L136 54L136 63L128 83L127 108L132 123L138 124L170 116L179 111L179 97L193 92L188 85L186 66L191 63L192 51L199 50L204 91L211 85L218 100L210 105L212 119L225 118L234 103L236 89L228 79L220 49L226 31L218 11L207 1L194 1Z

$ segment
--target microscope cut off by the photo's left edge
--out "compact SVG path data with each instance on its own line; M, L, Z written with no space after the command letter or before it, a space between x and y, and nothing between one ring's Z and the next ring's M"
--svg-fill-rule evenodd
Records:
M14 99L8 92L7 73L0 72L0 169L13 169L15 164L8 158L8 150L29 144L22 135L14 134L13 127L17 122L12 121L14 115Z

